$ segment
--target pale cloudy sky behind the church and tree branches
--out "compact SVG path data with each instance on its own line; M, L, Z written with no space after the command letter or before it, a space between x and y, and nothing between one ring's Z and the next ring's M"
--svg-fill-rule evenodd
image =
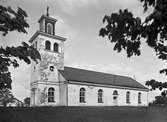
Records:
M46 7L49 6L50 16L58 20L56 35L67 38L64 45L65 66L130 76L143 85L152 78L166 80L159 70L167 63L159 60L153 49L145 43L141 46L141 56L127 58L124 51L113 51L113 44L99 36L100 28L105 25L102 23L104 15L118 12L119 9L128 8L143 19L148 13L143 14L138 0L0 0L0 4L24 9L30 25L28 34L10 32L6 36L1 35L0 46L17 46L22 41L28 42L38 30L38 19L46 14ZM23 100L30 96L30 65L22 61L19 63L19 68L10 68L12 92L16 98ZM149 101L158 94L159 91L149 92Z

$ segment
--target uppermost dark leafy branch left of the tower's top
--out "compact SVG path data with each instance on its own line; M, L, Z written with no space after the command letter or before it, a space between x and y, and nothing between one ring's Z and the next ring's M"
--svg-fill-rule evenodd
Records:
M6 35L9 31L17 30L18 32L27 33L26 28L29 27L25 21L27 14L18 7L14 11L11 7L0 6L0 31Z

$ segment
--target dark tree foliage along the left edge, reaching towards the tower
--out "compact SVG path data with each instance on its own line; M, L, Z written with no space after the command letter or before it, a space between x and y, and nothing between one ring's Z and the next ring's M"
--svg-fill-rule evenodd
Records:
M11 7L0 5L0 32L5 36L8 32L18 31L19 33L27 33L26 28L29 27L26 22L27 14L20 7L17 11ZM4 40L3 40L4 41ZM23 60L30 64L31 59L35 62L40 59L39 52L26 42L16 47L0 47L0 90L6 91L11 89L11 73L9 67L19 67L18 60Z

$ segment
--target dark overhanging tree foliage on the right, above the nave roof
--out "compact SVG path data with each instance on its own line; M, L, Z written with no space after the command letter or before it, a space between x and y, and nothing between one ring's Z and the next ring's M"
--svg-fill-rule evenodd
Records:
M141 21L134 17L128 9L119 10L118 13L105 15L103 23L106 25L99 31L99 36L108 37L114 43L113 50L124 50L127 57L141 55L140 45L145 42L154 49L157 58L167 60L167 0L139 0L143 5L144 13L153 8L152 12ZM167 75L167 68L160 70ZM153 90L167 88L167 83L154 79L146 82Z

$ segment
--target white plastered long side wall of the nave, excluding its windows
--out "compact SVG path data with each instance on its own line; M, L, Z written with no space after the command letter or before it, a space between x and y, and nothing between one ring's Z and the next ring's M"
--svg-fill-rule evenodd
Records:
M80 88L86 89L86 103L79 102ZM103 90L103 103L97 102L97 91ZM109 87L98 87L88 85L68 84L68 105L69 106L114 106L113 104L113 91L118 91L117 106L147 106L146 91L118 89ZM126 92L130 92L130 104L126 103ZM141 104L138 104L138 93L141 92Z

